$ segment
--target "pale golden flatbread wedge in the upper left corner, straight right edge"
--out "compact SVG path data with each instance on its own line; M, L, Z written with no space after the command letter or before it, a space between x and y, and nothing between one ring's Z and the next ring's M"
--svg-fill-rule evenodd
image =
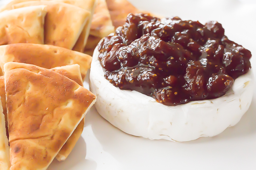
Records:
M45 5L0 13L0 45L14 43L44 44Z

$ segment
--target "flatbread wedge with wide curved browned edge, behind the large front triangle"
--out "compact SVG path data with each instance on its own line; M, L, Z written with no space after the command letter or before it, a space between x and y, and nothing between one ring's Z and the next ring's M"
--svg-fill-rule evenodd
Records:
M79 64L82 78L91 66L91 56L81 52L42 44L9 44L0 46L0 67L7 62L34 64L44 68L54 68L71 64Z

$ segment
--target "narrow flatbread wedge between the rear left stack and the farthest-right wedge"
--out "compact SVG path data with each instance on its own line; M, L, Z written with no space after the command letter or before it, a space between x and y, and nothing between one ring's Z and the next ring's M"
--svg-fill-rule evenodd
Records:
M91 23L90 35L103 38L114 32L106 0L98 0L93 20Z

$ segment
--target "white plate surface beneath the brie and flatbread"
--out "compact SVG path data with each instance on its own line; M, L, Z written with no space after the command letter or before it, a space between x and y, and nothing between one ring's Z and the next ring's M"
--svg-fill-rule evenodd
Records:
M1 0L6 3L8 0ZM225 35L253 54L256 75L255 0L131 0L138 8L205 23L217 20ZM182 7L180 7L182 6ZM85 82L88 87L88 81ZM216 137L175 143L128 135L103 119L95 108L86 115L82 137L66 161L48 170L255 170L256 91L248 112Z

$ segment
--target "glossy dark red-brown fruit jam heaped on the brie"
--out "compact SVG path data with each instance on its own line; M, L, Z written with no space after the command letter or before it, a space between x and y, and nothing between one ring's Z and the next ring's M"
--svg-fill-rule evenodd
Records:
M224 95L251 68L251 52L227 39L218 22L127 16L98 46L105 78L167 106Z

